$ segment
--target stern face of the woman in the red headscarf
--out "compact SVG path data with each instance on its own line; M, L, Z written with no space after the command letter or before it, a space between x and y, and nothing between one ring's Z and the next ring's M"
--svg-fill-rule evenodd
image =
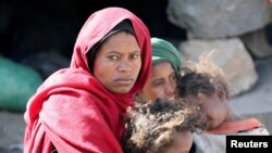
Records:
M137 80L141 67L140 48L136 38L126 31L110 36L99 48L95 77L111 92L126 93Z

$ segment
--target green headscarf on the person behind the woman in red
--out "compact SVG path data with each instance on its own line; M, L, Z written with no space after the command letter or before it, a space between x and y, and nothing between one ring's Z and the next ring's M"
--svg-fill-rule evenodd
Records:
M182 56L176 48L172 43L159 38L151 38L151 44L152 64L164 61L170 62L175 73L177 75L181 74Z

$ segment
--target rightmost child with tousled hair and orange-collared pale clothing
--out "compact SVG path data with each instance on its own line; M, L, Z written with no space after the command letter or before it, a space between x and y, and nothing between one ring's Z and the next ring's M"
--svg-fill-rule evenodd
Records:
M227 103L227 84L223 72L210 62L211 53L199 63L188 63L178 80L181 97L197 105L208 119L207 130L194 136L196 152L225 152L226 135L269 135L256 118L242 118L233 113Z

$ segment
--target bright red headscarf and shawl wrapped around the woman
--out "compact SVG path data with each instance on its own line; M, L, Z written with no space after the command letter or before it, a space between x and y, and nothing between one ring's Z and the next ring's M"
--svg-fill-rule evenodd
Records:
M86 53L124 20L132 22L141 49L141 69L128 93L107 90L90 73ZM150 35L145 24L121 8L95 12L83 26L70 68L51 75L27 103L24 153L121 153L123 119L151 69Z

